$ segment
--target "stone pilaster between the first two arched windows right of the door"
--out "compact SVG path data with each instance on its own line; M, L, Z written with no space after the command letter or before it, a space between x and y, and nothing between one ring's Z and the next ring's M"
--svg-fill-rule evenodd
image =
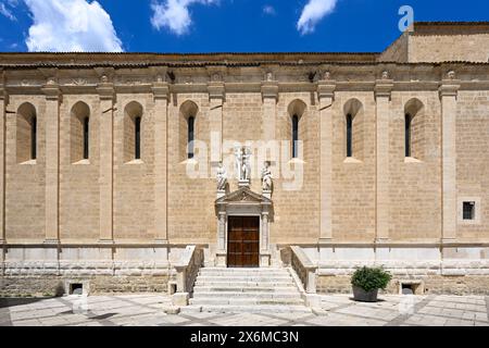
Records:
M319 241L333 239L333 101L336 83L319 80Z

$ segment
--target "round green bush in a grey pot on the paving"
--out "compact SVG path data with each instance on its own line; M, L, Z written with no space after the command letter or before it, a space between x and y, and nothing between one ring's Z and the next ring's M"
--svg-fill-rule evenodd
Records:
M351 278L355 301L376 302L378 289L385 289L392 276L383 268L358 269Z

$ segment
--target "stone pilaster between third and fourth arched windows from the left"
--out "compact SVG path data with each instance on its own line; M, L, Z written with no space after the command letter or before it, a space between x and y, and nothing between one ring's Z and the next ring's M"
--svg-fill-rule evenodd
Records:
M158 80L154 97L154 229L158 243L168 241L167 231L167 120L170 87Z

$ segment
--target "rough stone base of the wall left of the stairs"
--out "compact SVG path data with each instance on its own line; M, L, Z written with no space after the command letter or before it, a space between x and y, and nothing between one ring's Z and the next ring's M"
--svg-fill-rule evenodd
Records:
M70 283L80 283L90 295L115 293L167 293L170 275L140 276L2 276L0 297L61 296L68 293Z

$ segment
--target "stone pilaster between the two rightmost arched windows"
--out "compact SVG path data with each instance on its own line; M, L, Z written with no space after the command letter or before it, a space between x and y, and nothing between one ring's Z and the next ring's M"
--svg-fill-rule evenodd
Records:
M389 239L389 119L393 82L376 80L376 241Z

